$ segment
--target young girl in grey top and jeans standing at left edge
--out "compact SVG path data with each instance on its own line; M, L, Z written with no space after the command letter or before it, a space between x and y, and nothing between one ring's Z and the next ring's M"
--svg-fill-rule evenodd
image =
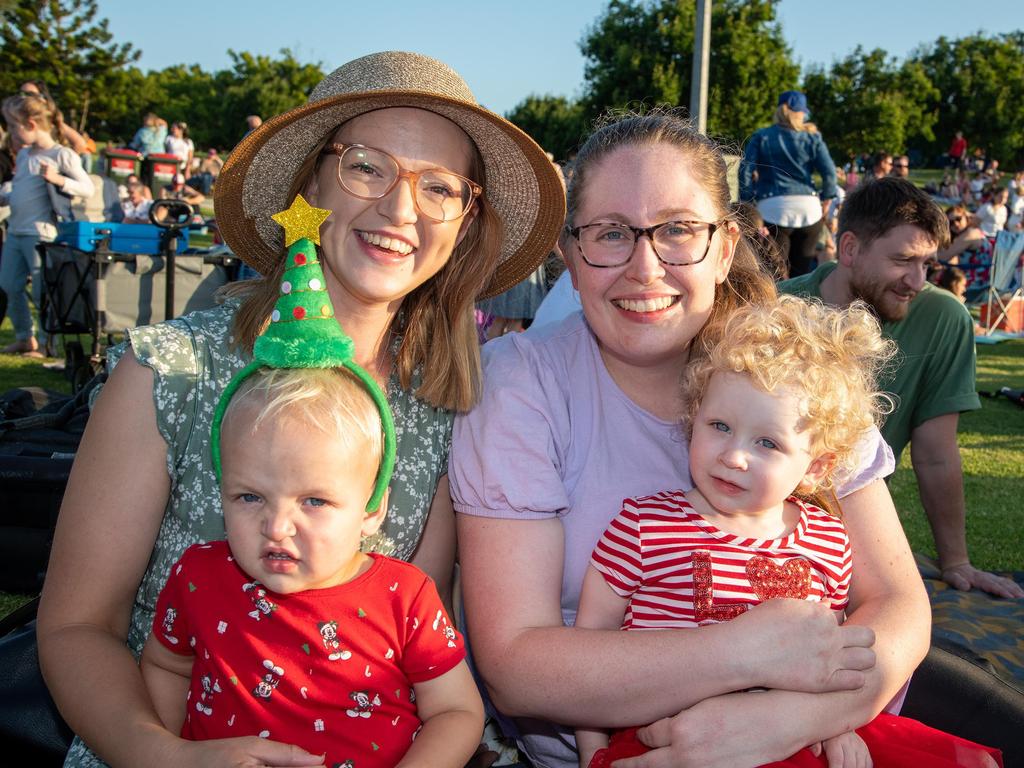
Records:
M3 116L15 143L20 145L9 193L0 194L0 205L10 206L7 240L0 261L0 288L7 294L8 313L14 327L14 343L6 353L42 357L33 334L32 313L25 286L32 279L32 299L38 309L43 295L43 276L36 246L54 240L56 214L50 196L92 195L92 181L73 150L59 145L52 135L55 114L40 96L11 96L3 102Z

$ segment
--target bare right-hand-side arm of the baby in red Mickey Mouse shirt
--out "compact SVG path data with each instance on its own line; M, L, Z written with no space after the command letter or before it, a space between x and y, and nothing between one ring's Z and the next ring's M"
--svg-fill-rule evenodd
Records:
M415 683L416 709L423 727L399 768L462 768L483 733L483 702L465 662L440 677Z

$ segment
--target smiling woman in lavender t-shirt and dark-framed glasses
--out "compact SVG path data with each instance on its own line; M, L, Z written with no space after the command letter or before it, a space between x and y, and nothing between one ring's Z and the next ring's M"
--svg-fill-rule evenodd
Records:
M709 318L774 296L728 211L721 151L685 121L655 112L599 129L578 155L562 238L584 312L489 343L482 400L456 421L469 638L538 766L575 763L565 726L638 723L662 748L644 766L782 759L871 719L928 649L877 434L841 489L857 572L844 626L795 600L685 632L571 626L622 500L690 488L679 381ZM755 687L771 690L736 692Z

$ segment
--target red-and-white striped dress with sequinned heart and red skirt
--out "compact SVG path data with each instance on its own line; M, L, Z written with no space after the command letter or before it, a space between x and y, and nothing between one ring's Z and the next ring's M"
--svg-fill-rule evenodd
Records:
M781 539L749 539L719 530L681 490L627 499L591 557L608 585L629 598L623 629L659 630L726 622L773 597L849 601L850 539L843 521L793 497L800 521ZM994 750L883 713L857 729L876 768L996 766ZM650 748L636 728L615 731L589 768L609 768ZM761 768L827 768L824 752L805 748Z

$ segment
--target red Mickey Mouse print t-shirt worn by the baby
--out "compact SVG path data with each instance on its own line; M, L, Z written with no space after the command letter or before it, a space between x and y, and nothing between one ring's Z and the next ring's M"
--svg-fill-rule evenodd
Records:
M331 766L399 762L421 725L414 685L464 656L429 580L374 555L346 585L278 595L228 557L223 543L188 550L158 600L157 639L195 657L182 735L266 733Z

